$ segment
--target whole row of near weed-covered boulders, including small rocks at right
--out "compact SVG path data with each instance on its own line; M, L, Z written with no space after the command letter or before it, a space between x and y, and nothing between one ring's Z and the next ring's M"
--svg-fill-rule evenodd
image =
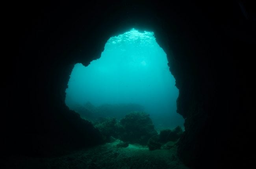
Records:
M183 133L182 128L177 126L173 130L163 129L158 134L150 115L140 111L128 113L121 120L100 118L94 125L102 134L104 142L120 140L118 147L139 144L147 146L149 150L170 149Z

